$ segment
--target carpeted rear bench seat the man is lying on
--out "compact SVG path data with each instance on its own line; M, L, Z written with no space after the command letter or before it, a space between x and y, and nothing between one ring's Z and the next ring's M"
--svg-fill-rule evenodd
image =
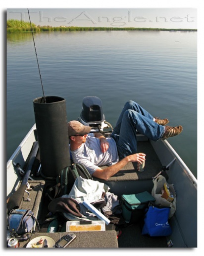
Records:
M138 152L146 154L145 171L137 171L137 162L128 163L121 171L108 180L94 178L100 182L106 183L112 193L134 194L147 190L152 191L153 177L162 170L162 165L155 154L150 141L138 142ZM106 167L101 167L102 169Z

